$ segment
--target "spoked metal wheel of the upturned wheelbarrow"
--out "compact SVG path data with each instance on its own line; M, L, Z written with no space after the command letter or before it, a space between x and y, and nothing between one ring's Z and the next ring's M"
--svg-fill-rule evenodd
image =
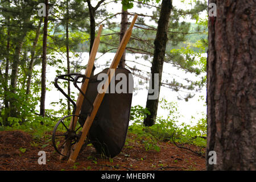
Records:
M71 118L75 116L79 117L79 115L71 114L61 118L53 129L52 144L55 151L60 155L63 155L61 154L61 150L63 150L65 143L70 142L72 150L73 145L79 141L81 136L82 126L79 122L77 122L74 130L69 129ZM70 151L68 152L68 155L63 156L68 157L69 155Z

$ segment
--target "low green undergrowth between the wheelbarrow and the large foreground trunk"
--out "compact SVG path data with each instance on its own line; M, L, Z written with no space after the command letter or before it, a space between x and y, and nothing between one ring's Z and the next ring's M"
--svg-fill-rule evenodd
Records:
M158 117L155 125L146 127L143 125L144 111L147 109L142 106L132 107L131 122L129 133L134 134L134 140L140 141L144 145L144 150L159 151L158 142L167 142L174 140L177 143L189 143L196 146L205 147L207 122L205 116L201 118L195 126L182 123L178 125L180 118L177 104L168 102L165 99L160 101L160 106L169 111L166 118ZM202 138L203 137L203 138ZM127 141L129 142L129 140ZM128 143L126 143L128 144Z

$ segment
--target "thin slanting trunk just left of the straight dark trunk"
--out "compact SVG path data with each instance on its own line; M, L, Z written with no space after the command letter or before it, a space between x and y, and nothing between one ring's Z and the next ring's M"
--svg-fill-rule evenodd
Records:
M35 48L36 48L36 44L38 43L42 22L43 22L43 19L40 19L38 23L38 28L36 28L35 40L33 42L32 50L31 50L31 60L30 60L30 64L28 65L28 72L27 72L28 76L27 76L26 94L30 93L31 77L32 77L32 71L33 71L33 65L34 65L34 59L35 59Z

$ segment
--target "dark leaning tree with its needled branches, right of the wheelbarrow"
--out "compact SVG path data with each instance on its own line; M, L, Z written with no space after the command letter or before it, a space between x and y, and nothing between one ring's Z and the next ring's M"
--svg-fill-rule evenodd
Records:
M195 89L195 86L200 86L199 82L192 82L192 81L187 81L191 82L191 85L184 86L183 84L180 84L179 82L173 80L173 81L162 81L162 72L163 72L163 64L165 63L171 63L175 65L177 68L183 68L187 69L189 72L196 73L196 75L199 75L201 71L199 69L194 68L195 67L195 56L189 56L188 54L185 54L185 56L181 56L181 52L179 53L172 53L170 52L170 49L174 49L175 45L179 44L180 42L184 42L186 40L186 35L190 34L189 28L190 24L185 23L185 22L179 22L179 19L182 16L186 15L191 15L192 18L198 18L198 13L200 11L205 10L206 5L204 3L195 1L196 5L193 9L188 10L188 11L181 11L174 9L174 12L171 14L171 10L167 12L167 5L162 6L161 8L156 9L155 16L152 18L156 22L158 20L158 29L156 31L155 27L148 26L143 22L143 20L138 21L137 24L140 24L141 28L146 29L146 31L156 31L156 37L154 39L154 44L155 47L152 47L152 39L150 40L145 40L143 46L139 43L134 43L135 45L140 45L139 49L142 52L145 52L147 55L150 55L153 57L152 60L152 66L151 66L151 73L153 75L152 77L152 84L154 85L154 73L159 74L159 91L160 91L160 86L167 86L168 88L174 89L174 90L180 90L180 89L187 89L187 90L193 90ZM163 3L171 3L171 1L168 2L163 2ZM163 9L164 7L164 9ZM162 10L164 13L162 13ZM160 11L160 12L159 12ZM197 15L196 15L197 14ZM143 15L142 15L143 16ZM163 20L160 20L160 18L163 18ZM170 25L168 26L168 22L170 21ZM146 27L146 28L145 28ZM166 30L163 29L166 28ZM199 31L199 29L197 30ZM150 32L152 34L152 32ZM194 32L195 34L195 32ZM139 34L137 34L139 35ZM141 41L142 39L139 38L140 36L135 36L135 40ZM170 38L170 42L168 43L168 38ZM166 42L165 42L166 40ZM158 45L156 45L158 44ZM171 46L171 47L170 47ZM167 47L167 51L166 51ZM150 52L154 50L154 55L151 55ZM180 55L179 55L180 54ZM146 77L147 79L147 77ZM188 94L185 99L187 100L188 98L191 98L191 94ZM159 97L158 97L159 98ZM156 100L147 100L146 107L148 110L150 110L151 114L147 115L147 118L144 120L144 124L146 126L152 126L155 123L156 119L156 114L158 110L158 98Z

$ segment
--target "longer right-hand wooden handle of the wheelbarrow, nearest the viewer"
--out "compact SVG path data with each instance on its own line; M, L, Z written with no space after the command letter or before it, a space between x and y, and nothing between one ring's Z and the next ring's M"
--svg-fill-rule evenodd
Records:
M93 102L92 112L90 113L90 115L88 115L88 117L86 118L86 121L84 123L84 126L82 127L82 134L81 134L81 137L79 139L79 142L75 144L74 150L71 151L71 155L69 156L69 159L68 159L69 164L75 163L77 155L79 154L79 152L81 150L82 144L84 143L84 140L85 140L86 136L89 133L90 126L92 126L92 123L93 123L93 119L97 114L97 111L98 111L98 109L101 105L101 102L102 102L103 98L104 98L105 92L108 89L108 86L110 84L110 81L112 80L112 77L114 76L113 74L110 74L110 69L116 69L117 68L117 66L119 64L119 61L120 61L120 59L123 55L123 52L125 51L126 45L129 42L129 39L131 37L131 32L133 30L133 26L134 26L134 23L135 23L137 17L138 17L138 15L134 16L133 22L131 22L131 26L125 32L125 35L123 36L122 42L120 43L120 45L118 47L117 53L115 53L115 57L112 61L112 64L110 65L109 70L108 70L108 78L109 78L109 79L107 79L108 82L106 82L104 84L104 88L101 88L101 89L103 89L103 92L98 93L97 97L95 98L95 100Z

